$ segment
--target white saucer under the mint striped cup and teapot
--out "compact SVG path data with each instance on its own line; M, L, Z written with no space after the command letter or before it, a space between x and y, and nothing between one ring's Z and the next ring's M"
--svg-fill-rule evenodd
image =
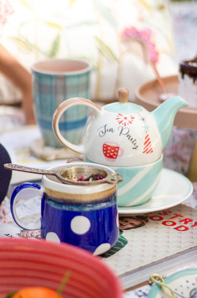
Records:
M193 185L182 174L163 168L153 196L144 204L118 207L119 214L137 214L164 210L183 203L193 193Z

